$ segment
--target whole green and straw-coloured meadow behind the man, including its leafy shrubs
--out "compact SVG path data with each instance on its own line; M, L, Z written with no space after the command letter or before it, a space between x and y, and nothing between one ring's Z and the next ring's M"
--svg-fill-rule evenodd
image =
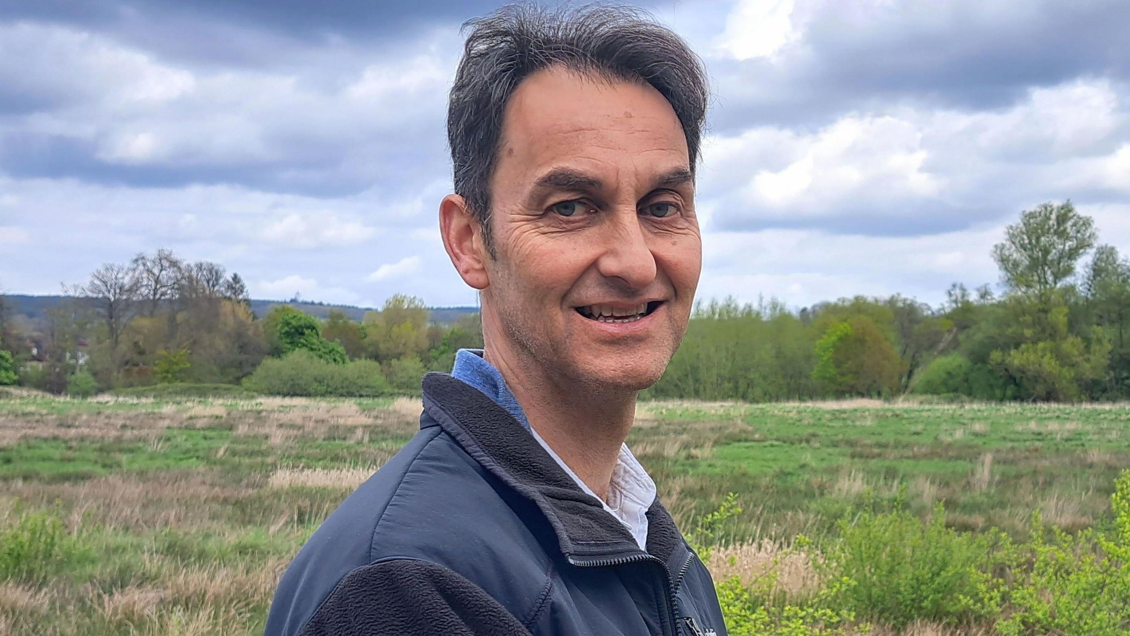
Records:
M289 559L418 414L9 389L0 636L261 634ZM1130 634L1130 512L1112 509L1130 509L1130 405L646 402L628 444L738 636ZM1101 590L1048 620L1113 613L1085 631L1025 618L1060 585Z

